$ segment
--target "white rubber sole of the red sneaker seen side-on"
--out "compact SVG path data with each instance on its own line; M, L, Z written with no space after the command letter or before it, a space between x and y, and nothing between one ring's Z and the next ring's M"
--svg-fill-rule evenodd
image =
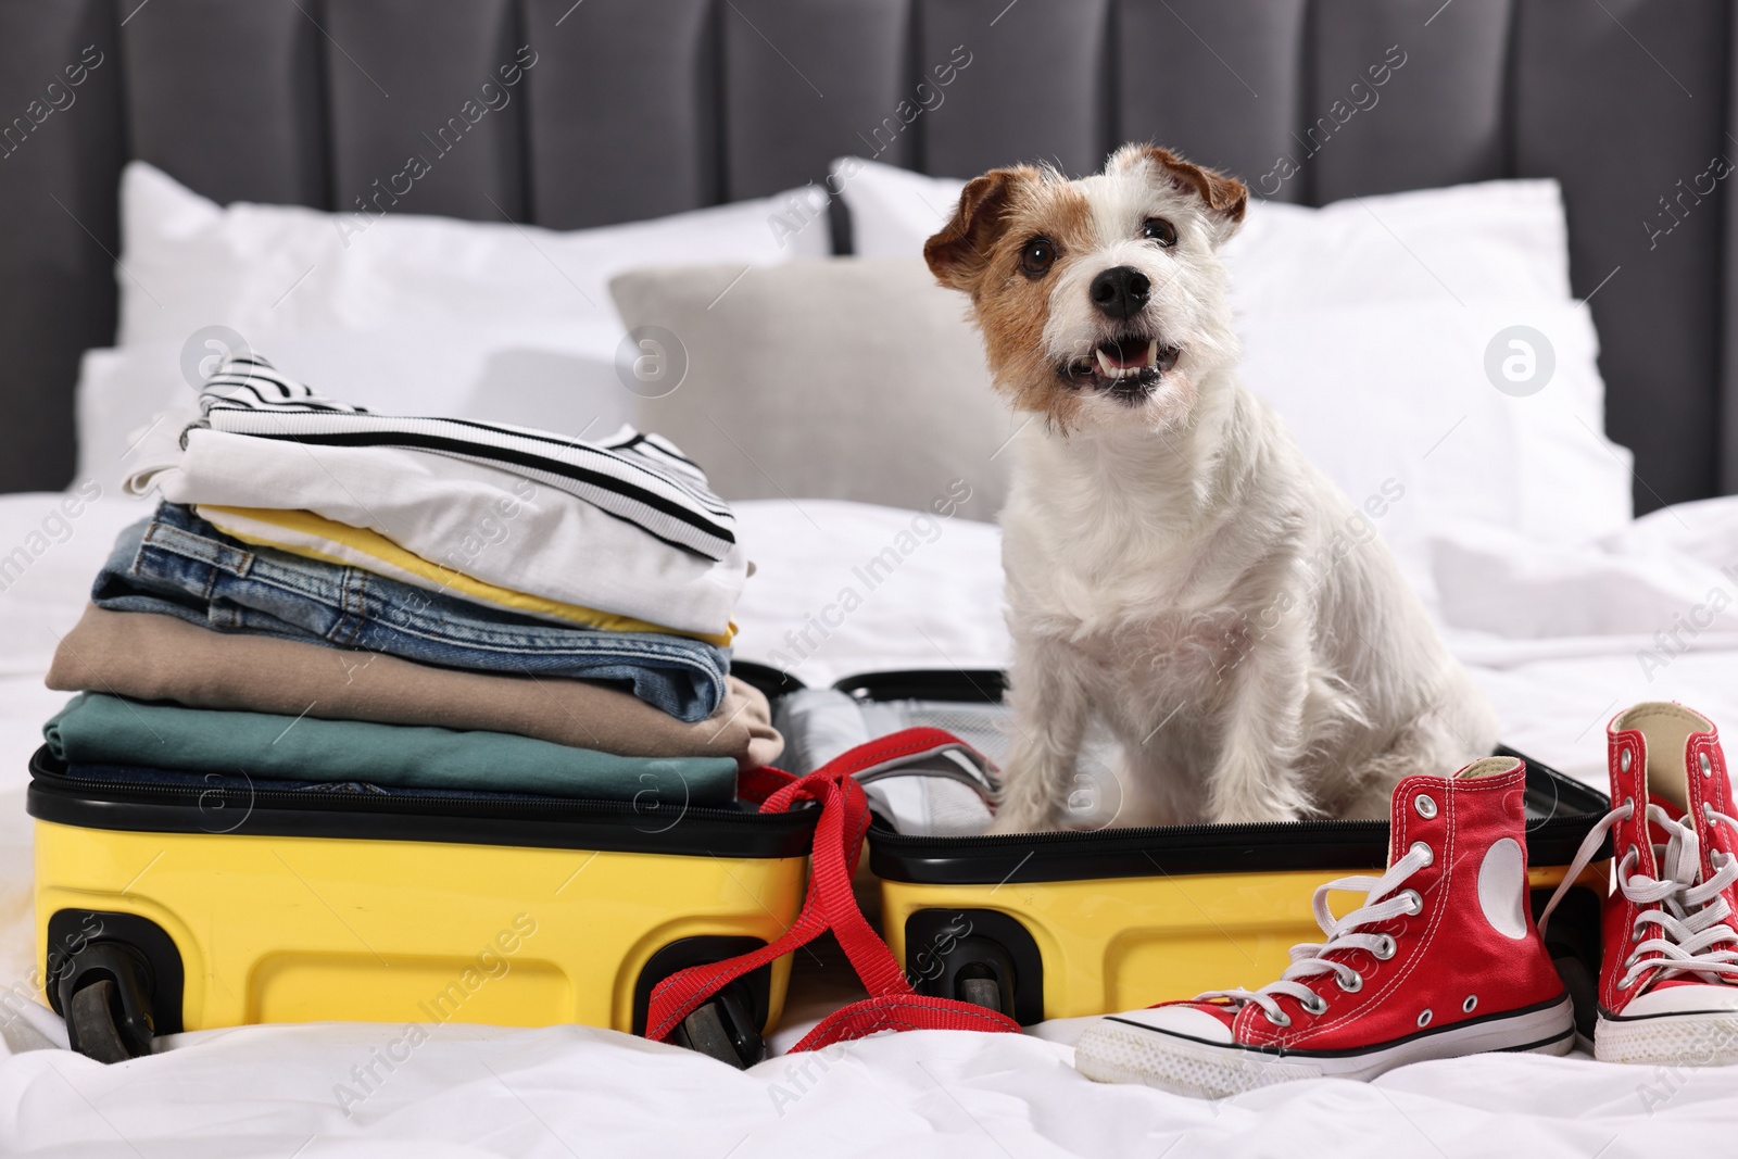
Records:
M1276 1055L1149 1030L1104 1018L1074 1046L1074 1069L1095 1083L1140 1083L1175 1095L1225 1098L1293 1079L1373 1079L1394 1067L1486 1051L1566 1055L1575 1046L1569 999L1517 1015L1416 1034L1343 1055Z

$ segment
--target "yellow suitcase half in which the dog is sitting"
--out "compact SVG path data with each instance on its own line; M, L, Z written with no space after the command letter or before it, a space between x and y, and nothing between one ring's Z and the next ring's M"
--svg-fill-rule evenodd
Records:
M834 685L869 732L933 726L992 761L996 671L879 672ZM789 686L786 686L789 692ZM780 714L791 747L803 723ZM1509 749L1500 752L1519 756ZM1562 881L1602 794L1528 759L1528 864L1535 911ZM1178 825L1015 836L904 836L869 829L881 935L921 994L992 1006L1022 1023L1133 1010L1272 982L1298 942L1319 942L1316 886L1380 872L1387 822ZM1559 973L1592 1029L1606 862L1582 876L1550 923ZM1359 904L1343 895L1337 912Z

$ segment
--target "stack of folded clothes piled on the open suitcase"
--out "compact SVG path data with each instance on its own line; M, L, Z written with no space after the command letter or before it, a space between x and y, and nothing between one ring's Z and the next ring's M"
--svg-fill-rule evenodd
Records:
M375 415L257 356L200 410L49 671L73 775L726 805L779 756L728 674L730 509L667 441Z

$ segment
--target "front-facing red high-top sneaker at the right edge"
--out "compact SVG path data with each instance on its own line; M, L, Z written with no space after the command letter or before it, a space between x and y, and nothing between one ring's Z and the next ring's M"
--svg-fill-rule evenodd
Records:
M1738 820L1719 733L1700 712L1651 702L1615 716L1606 735L1615 808L1557 890L1611 831L1594 1056L1738 1063Z

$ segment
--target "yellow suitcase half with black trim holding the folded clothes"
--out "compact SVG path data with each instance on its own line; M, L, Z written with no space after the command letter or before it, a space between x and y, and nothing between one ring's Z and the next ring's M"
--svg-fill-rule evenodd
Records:
M75 1048L115 1062L257 1022L391 1023L400 1051L447 1022L638 1032L657 982L796 917L815 824L349 789L73 777L38 751L36 961ZM690 1023L707 1041L680 1041L758 1058L789 970L744 978Z

